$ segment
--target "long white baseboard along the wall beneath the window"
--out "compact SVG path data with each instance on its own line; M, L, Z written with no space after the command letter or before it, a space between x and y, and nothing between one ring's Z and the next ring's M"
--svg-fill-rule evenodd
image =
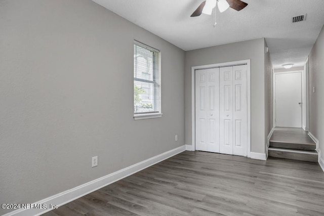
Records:
M139 163L136 163L136 164L126 167L124 169L115 171L112 174L109 174L107 176L104 176L99 179L88 182L86 184L77 186L75 188L72 188L70 190L56 194L54 196L45 198L45 199L35 202L33 204L39 204L40 206L44 206L43 204L46 204L47 207L49 207L50 205L52 205L52 206L53 205L58 205L58 206L64 205L68 202L71 202L71 201L77 199L77 198L83 197L91 192L94 192L102 187L110 185L120 179L124 179L132 174L135 174L136 172L138 172L142 169L145 169L155 163L158 163L158 162L163 161L169 157L179 154L185 150L186 150L186 145L180 146L178 148L175 148L170 151L167 151L162 154L151 157L147 160L143 160ZM53 210L53 209L39 209L39 208L17 209L15 211L4 214L3 216L41 215L41 214L44 214L50 210Z

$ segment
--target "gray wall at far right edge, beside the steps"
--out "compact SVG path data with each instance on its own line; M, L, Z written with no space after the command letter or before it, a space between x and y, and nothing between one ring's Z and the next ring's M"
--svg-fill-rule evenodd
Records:
M309 132L319 141L324 160L324 27L309 55ZM315 87L315 93L313 93Z

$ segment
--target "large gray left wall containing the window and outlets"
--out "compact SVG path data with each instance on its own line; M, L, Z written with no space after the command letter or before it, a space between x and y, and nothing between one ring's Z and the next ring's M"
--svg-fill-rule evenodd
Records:
M0 203L184 145L181 49L90 0L2 0L0 29ZM161 118L133 119L133 39L161 51Z

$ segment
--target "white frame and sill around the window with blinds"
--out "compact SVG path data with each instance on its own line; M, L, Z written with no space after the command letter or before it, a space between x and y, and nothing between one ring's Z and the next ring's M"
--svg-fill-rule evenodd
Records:
M158 97L159 98L159 103L158 103L158 106L157 106L157 111L155 112L146 112L146 113L135 113L134 112L134 100L135 100L135 97L134 97L134 86L135 86L135 78L134 78L134 60L133 60L133 114L134 114L134 120L139 120L139 119L147 119L147 118L159 118L159 117L162 117L162 112L161 112L161 52L153 47L150 47L148 45L145 45L143 44L142 42L139 42L138 40L134 40L133 42L133 59L134 59L134 45L138 45L142 48L145 48L149 51L153 51L155 53L157 53L157 61L158 61L158 72L157 72L157 75L158 75L158 80L156 82L156 84L158 85L159 87L159 91L158 91L158 94L155 95L153 97ZM153 77L153 79L155 79L155 77ZM138 81L138 80L137 80Z

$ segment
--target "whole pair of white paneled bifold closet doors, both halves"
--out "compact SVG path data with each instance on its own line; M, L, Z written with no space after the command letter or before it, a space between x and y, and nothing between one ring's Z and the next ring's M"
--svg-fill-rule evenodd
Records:
M247 65L197 70L196 150L247 156Z

